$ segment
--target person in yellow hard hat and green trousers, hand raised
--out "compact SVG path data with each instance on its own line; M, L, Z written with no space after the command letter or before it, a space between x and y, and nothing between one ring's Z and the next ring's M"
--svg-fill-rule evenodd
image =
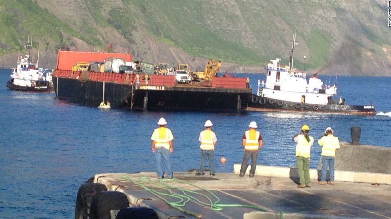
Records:
M314 138L308 135L308 125L301 127L301 134L297 134L292 138L296 144L296 161L299 172L299 188L311 187L309 180L309 157L311 154L311 146L314 144Z

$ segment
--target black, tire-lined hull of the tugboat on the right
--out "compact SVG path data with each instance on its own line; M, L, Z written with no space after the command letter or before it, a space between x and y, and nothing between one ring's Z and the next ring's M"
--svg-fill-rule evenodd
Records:
M349 115L376 115L374 106L351 106L340 104L307 104L282 101L278 99L271 99L267 97L258 97L256 95L250 96L247 100L248 111L261 112L295 112L295 113L329 113L329 114L349 114Z

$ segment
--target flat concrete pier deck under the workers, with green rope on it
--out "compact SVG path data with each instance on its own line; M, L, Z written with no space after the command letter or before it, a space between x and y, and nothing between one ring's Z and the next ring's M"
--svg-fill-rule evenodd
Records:
M127 195L132 206L152 208L161 219L167 218L207 218L207 219L344 219L344 218L381 218L391 219L391 185L372 185L371 183L335 181L335 185L318 185L317 179L311 179L311 188L297 188L297 179L286 174L287 168L278 168L285 172L284 177L263 176L266 166L257 167L255 177L248 174L239 177L235 173L217 173L215 177L195 176L194 173L174 173L174 180L158 180L155 172L137 174L107 173L95 176L95 182L105 184L108 190L116 190ZM237 169L237 165L234 169ZM265 169L265 170L264 170ZM386 174L387 175L387 174ZM157 195L134 182L145 186L158 184L154 188L158 192L182 194L180 190L197 192L206 195L212 203L221 209L212 209L202 195L186 192L197 198L189 200L181 208L185 212L168 205ZM148 183L146 183L148 182ZM183 183L185 182L185 183ZM159 184L163 183L163 184ZM147 185L148 184L148 185ZM164 186L162 186L164 185ZM213 196L212 192L215 196ZM163 196L170 202L178 202L177 198ZM218 199L216 199L216 197ZM228 207L225 204L241 205ZM246 205L246 207L244 207ZM251 206L251 207L249 207ZM257 209L255 209L257 208ZM261 211L262 209L263 211ZM266 212L264 212L266 211ZM194 214L188 214L192 212ZM311 215L311 217L309 217Z

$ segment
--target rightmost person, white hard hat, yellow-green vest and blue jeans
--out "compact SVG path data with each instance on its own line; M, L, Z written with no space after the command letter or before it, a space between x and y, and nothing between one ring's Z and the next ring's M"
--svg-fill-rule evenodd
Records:
M331 127L327 127L325 130L325 134L318 140L318 144L322 146L322 170L319 185L326 185L326 173L327 167L329 167L330 178L327 182L330 185L334 185L334 163L335 163L335 150L339 149L341 146L339 145L338 137L335 137L334 130Z

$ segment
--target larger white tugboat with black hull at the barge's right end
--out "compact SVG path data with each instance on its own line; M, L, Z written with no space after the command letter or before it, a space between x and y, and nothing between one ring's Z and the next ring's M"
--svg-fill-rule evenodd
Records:
M266 65L266 81L258 80L258 92L249 97L246 110L376 115L372 105L346 105L342 97L333 98L337 94L336 83L325 85L317 73L307 82L306 73L293 71L295 39L296 34L289 66L281 67L279 58Z

